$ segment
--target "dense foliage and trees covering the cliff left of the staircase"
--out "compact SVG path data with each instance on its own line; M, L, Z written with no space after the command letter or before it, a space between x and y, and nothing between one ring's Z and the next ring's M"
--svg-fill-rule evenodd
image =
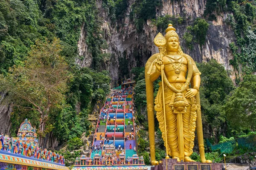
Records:
M100 25L93 0L0 0L0 88L15 105L12 136L24 118L44 141L53 136L62 144L89 134L87 116L110 92ZM75 64L83 59L77 50L81 30L93 70Z

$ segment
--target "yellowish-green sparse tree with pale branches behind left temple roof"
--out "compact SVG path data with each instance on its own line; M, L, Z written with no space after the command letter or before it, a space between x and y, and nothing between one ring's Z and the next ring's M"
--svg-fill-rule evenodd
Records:
M39 143L50 132L49 113L65 103L67 81L71 78L67 63L60 55L60 40L36 41L25 66L13 66L6 76L0 76L0 90L8 92L9 102L39 113ZM26 105L26 106L24 106Z

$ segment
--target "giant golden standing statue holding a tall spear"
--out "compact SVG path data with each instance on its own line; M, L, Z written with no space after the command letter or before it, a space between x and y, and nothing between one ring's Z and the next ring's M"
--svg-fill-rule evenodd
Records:
M157 111L157 120L165 142L166 159L172 156L177 161L193 161L189 156L193 153L197 127L201 162L210 163L204 155L199 96L201 73L194 60L181 50L179 36L172 24L166 29L165 37L161 33L157 34L154 43L159 47L160 53L153 54L145 65L151 164L158 164L155 160L154 109ZM153 82L160 75L162 82L159 83L154 102Z

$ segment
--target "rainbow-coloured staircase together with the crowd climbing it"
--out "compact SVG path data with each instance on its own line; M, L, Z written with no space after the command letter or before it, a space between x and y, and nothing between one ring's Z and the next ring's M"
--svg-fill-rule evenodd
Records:
M112 154L118 160L121 153L137 154L134 119L133 87L113 92L99 113L90 157Z

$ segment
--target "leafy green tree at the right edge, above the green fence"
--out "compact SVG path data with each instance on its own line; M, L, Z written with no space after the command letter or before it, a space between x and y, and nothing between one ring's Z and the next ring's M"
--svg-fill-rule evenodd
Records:
M227 99L224 111L234 130L256 130L256 76L246 75L244 81Z

